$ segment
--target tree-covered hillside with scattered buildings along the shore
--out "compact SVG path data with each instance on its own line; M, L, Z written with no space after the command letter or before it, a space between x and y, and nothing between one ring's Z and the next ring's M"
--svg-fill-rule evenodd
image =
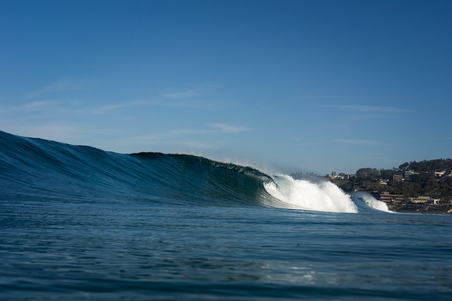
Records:
M292 173L293 179L329 181L347 193L363 192L390 210L415 214L452 215L452 159L405 162L399 168L361 168L356 174ZM391 209L395 208L395 209Z

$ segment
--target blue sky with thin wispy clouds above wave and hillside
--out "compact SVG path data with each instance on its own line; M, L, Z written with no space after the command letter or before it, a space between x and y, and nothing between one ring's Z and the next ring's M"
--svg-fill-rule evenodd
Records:
M0 130L271 172L452 157L451 1L0 1Z

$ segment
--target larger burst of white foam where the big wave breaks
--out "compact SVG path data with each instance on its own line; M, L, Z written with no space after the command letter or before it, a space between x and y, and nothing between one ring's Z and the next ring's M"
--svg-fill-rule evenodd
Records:
M358 213L350 196L330 182L314 184L277 174L275 183L266 183L266 191L274 198L304 210Z

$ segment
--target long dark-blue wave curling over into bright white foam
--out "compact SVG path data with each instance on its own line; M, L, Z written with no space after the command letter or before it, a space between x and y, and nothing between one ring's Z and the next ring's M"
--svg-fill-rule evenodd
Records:
M123 155L3 131L0 198L358 212L356 201L329 182L269 176L193 155Z

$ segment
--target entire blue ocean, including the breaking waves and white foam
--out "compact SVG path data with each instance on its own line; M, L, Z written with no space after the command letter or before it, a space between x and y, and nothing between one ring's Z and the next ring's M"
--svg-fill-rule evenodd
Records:
M451 300L451 216L0 131L2 300Z

